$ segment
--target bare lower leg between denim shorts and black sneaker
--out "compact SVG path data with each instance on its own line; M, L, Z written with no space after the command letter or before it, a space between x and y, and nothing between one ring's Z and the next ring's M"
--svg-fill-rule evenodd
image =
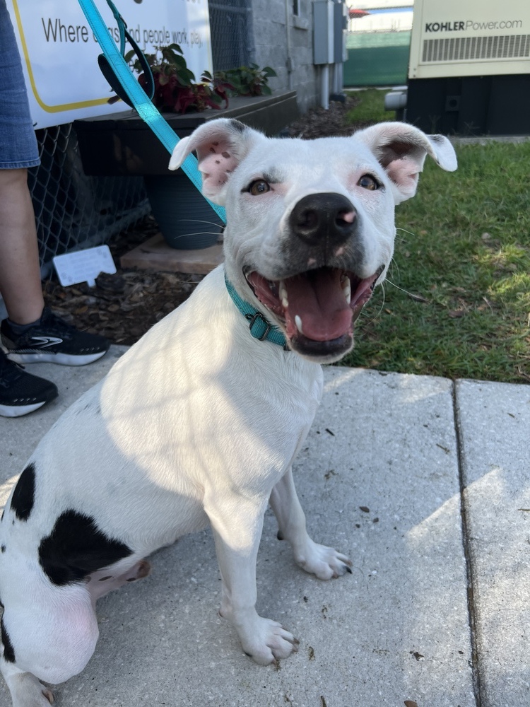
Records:
M35 214L25 169L0 169L0 293L8 317L19 325L42 315Z

